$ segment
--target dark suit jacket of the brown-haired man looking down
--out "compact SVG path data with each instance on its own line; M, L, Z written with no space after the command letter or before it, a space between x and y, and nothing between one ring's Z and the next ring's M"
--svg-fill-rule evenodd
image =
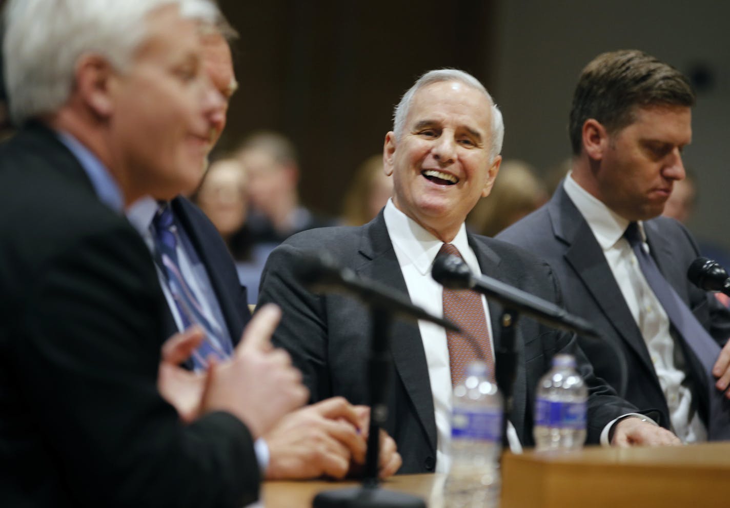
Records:
M699 256L688 231L676 220L664 217L647 220L644 226L651 254L666 280L704 328L724 344L730 336L730 313L712 295L687 280L688 266ZM497 238L538 253L548 261L564 290L566 309L593 323L626 356L629 367L626 399L637 407L660 410L661 424L668 428L669 409L639 327L591 228L563 186L558 187L548 204ZM618 388L620 375L612 348L606 342L591 339L581 339L580 345L593 363L596 375ZM694 390L694 394L704 417L709 393L706 377L699 374L702 366L683 340L680 345L696 387L702 387Z

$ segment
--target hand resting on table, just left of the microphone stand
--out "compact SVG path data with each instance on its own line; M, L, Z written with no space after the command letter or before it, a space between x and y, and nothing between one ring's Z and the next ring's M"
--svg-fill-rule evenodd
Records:
M365 461L366 442L355 407L342 397L286 415L268 434L267 480L343 478L350 460Z

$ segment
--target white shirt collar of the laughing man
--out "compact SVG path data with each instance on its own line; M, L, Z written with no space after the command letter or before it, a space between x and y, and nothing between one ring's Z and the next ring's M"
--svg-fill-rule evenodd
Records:
M403 251L420 274L429 274L434 259L436 259L436 255L441 250L444 242L397 209L392 199L388 199L388 203L385 204L383 218L393 245L397 245ZM461 224L461 228L459 228L451 244L458 249L473 272L481 273L476 258L469 255L472 250L469 247L469 239L466 237L464 224Z

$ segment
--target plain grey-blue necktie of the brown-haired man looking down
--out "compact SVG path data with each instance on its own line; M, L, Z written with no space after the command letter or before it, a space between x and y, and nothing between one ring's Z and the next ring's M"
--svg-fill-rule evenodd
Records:
M712 375L712 366L715 365L715 361L720 355L720 346L694 317L694 314L677 294L675 288L672 288L672 285L666 282L664 275L656 266L654 258L644 250L639 225L635 222L630 223L623 236L629 241L629 245L634 250L646 282L649 283L659 303L664 307L664 311L672 325L683 336L687 345L704 367L706 382L710 388L708 399L710 414L707 417L708 439L713 441L730 439L730 400L726 399L723 393L715 388L715 377Z

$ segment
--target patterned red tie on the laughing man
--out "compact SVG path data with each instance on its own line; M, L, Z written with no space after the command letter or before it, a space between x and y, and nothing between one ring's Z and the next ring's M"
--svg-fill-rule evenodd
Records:
M439 255L452 254L461 258L461 253L452 244L444 244ZM494 379L494 358L489 342L489 330L484 315L482 297L472 290L450 290L444 288L443 293L444 318L456 323L462 334L446 331L446 341L449 347L449 365L451 367L451 385L456 386L466 372L466 366L475 360L483 360L489 366L489 373ZM467 337L472 340L469 341ZM478 349L483 353L480 358Z

